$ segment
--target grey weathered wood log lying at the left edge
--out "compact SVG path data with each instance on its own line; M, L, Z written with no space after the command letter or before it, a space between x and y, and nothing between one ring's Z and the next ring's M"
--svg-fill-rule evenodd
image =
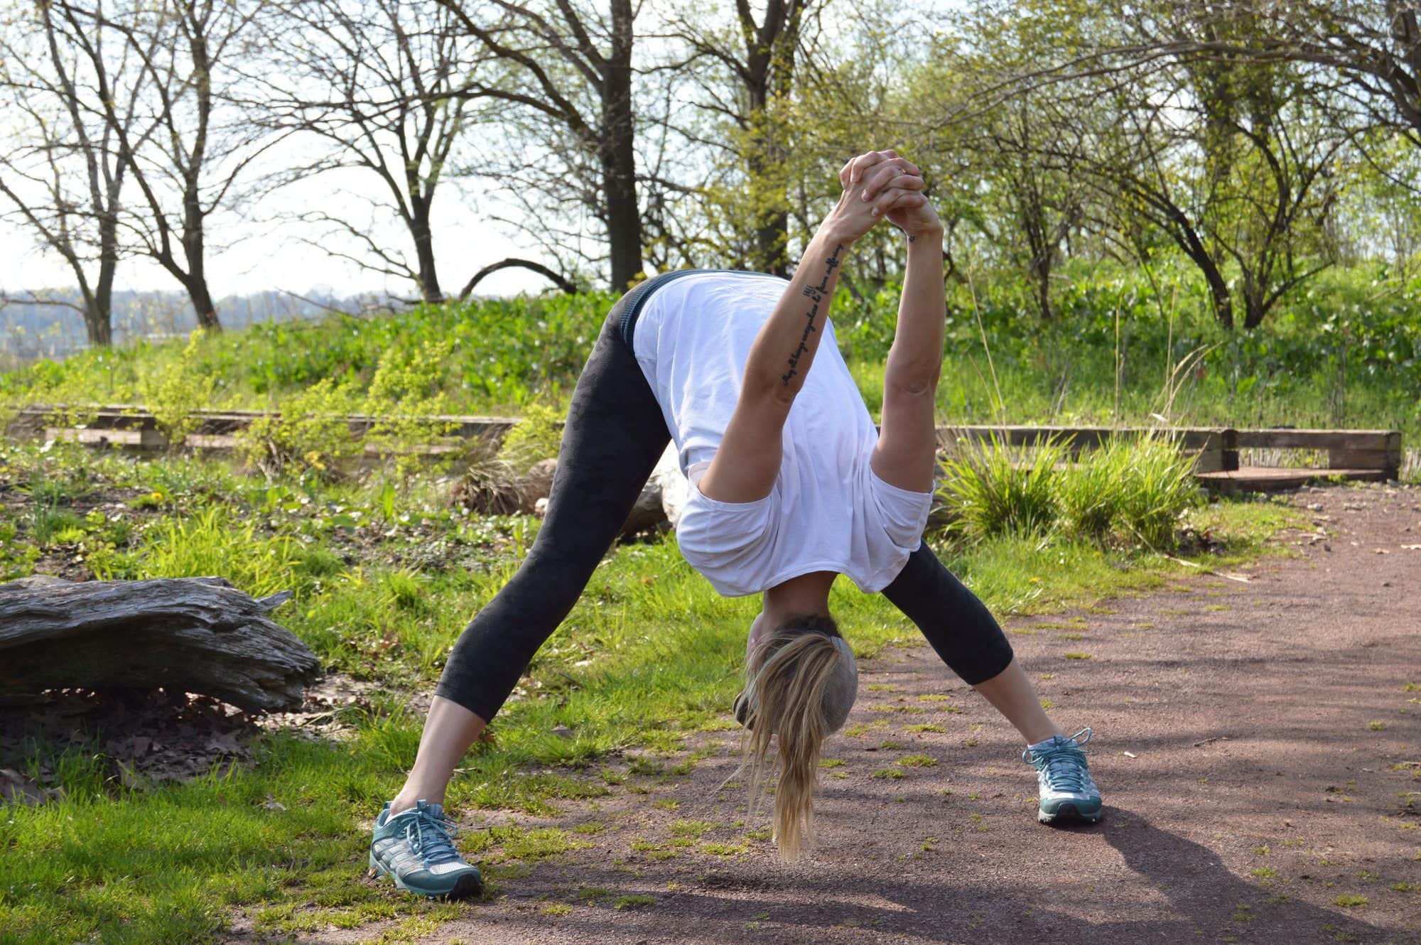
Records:
M321 675L315 655L220 577L0 584L0 698L58 688L162 686L247 712L294 709Z

